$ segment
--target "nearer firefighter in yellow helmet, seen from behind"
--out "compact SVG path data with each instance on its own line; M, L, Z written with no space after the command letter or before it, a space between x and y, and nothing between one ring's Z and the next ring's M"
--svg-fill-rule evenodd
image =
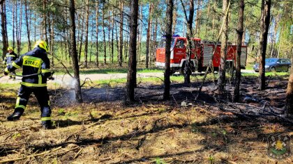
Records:
M23 54L6 67L4 75L8 75L9 72L22 67L20 92L17 95L13 114L7 117L8 121L20 119L29 101L29 96L33 92L36 99L38 99L38 104L40 104L41 124L44 129L51 128L51 108L47 92L47 79L53 79L54 72L50 72L50 60L47 57L47 53L47 43L43 40L38 40L32 51Z

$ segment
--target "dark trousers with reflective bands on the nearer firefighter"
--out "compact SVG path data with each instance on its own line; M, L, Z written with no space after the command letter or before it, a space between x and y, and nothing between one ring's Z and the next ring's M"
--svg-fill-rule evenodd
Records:
M51 120L50 99L49 99L47 87L31 88L31 87L21 85L20 92L17 95L15 111L25 110L31 93L33 93L36 96L36 99L38 99L38 104L40 105L40 112L41 112L41 115L40 115L41 121Z

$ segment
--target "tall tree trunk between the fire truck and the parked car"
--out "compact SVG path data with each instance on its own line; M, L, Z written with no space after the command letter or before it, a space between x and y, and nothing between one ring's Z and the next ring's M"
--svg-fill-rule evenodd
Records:
M269 32L269 19L271 10L271 0L262 0L262 17L260 19L260 76L259 76L259 89L264 90L265 84L265 69L264 61L266 59L266 44Z

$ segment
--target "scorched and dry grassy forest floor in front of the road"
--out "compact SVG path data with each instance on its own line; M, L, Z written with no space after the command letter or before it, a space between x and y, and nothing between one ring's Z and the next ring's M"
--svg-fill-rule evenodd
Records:
M74 91L50 90L54 129L40 128L36 98L21 120L6 122L17 88L1 91L0 163L276 163L266 155L271 134L293 135L293 119L283 109L287 79L243 77L241 101L232 103L233 84L224 95L216 81L163 86L140 84L137 104L124 106L123 87L84 88L84 103ZM293 163L293 156L278 163Z

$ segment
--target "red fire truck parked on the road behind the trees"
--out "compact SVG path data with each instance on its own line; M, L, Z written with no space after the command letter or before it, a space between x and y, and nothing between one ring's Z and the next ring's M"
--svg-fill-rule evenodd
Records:
M215 49L215 44L213 42L202 42L200 38L192 39L192 54L191 54L191 64L193 72L202 72L206 70L206 67L209 66L213 50ZM171 60L170 67L171 72L174 74L176 71L183 74L186 61L186 38L175 35L172 37L171 43ZM162 38L158 49L156 49L156 67L164 68L165 67L165 43L166 39ZM245 69L246 67L246 58L247 58L247 46L241 46L241 68ZM228 44L227 46L227 64L230 66L235 65L236 61L236 45ZM216 47L216 51L213 54L213 70L217 71L220 65L220 44Z

